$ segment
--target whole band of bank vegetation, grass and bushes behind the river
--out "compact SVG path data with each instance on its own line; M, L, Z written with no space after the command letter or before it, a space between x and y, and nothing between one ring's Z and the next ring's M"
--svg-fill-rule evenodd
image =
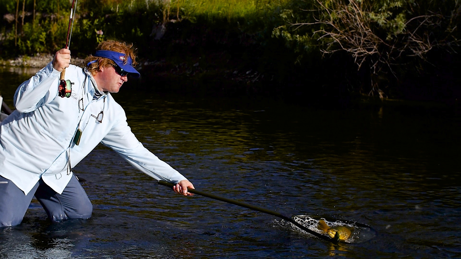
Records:
M70 9L0 0L1 58L64 47ZM460 18L458 0L78 0L70 48L133 42L163 60L149 72L166 88L213 92L224 77L247 93L444 99L461 93L447 72L461 65Z

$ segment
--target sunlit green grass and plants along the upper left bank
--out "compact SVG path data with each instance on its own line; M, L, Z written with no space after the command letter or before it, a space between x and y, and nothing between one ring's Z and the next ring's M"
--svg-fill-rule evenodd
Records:
M225 29L238 26L245 30L256 26L261 30L264 23L260 20L267 18L266 12L286 1L78 0L71 48L85 53L106 38L136 42L138 47L148 46L156 25L170 21L213 24L224 20L232 24ZM64 47L71 2L0 0L0 14L4 21L0 26L2 57L53 53ZM278 15L273 14L272 20L274 16L277 18Z

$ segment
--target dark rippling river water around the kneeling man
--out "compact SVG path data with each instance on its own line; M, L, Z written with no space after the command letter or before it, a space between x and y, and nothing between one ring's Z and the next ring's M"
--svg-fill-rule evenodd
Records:
M12 94L30 71L0 70ZM134 93L138 139L209 193L287 214L354 220L377 235L333 245L264 213L183 197L98 146L74 168L93 218L51 224L33 200L0 230L2 258L459 258L461 119L436 106L314 109Z

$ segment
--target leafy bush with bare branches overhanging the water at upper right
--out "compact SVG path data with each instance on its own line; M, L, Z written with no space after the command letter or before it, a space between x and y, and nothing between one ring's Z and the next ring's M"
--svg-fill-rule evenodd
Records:
M420 73L431 54L455 54L461 44L457 0L296 1L281 15L286 24L274 36L298 52L348 53L370 82L360 91L381 98L389 81Z

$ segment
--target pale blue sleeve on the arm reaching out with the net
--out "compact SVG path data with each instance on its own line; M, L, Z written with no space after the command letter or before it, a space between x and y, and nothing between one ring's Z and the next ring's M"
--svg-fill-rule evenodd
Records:
M123 109L122 118L114 124L101 143L115 150L128 163L157 180L177 183L187 178L160 160L136 139L126 122ZM123 115L121 115L123 113Z

